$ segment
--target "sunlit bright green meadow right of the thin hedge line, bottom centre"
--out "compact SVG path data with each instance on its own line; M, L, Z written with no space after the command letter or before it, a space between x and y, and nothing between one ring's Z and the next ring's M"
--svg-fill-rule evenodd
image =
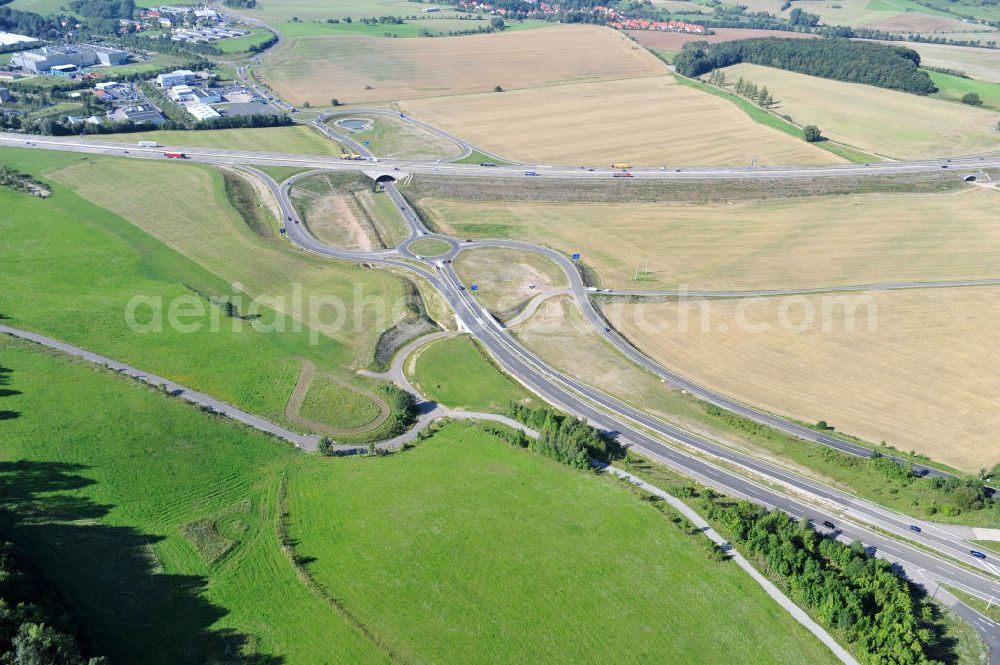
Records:
M468 425L311 465L288 513L312 576L401 662L834 660L647 502Z

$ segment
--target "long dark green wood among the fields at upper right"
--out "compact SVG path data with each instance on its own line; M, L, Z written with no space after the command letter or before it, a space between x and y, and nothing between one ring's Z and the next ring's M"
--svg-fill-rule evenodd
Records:
M692 77L741 62L918 95L937 91L913 49L839 38L690 42L674 60L680 74Z

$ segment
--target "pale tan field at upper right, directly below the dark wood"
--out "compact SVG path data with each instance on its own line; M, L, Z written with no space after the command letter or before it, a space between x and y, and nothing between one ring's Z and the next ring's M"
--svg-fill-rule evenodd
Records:
M742 76L767 86L774 109L798 124L817 125L833 140L876 154L922 159L1000 148L1000 114L992 111L760 65L722 71L728 81Z

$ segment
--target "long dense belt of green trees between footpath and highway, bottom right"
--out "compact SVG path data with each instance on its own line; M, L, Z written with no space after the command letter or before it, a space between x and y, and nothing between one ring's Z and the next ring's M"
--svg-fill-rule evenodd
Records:
M844 545L805 519L796 522L745 501L711 503L708 517L778 577L793 600L854 647L863 663L940 663L948 646L933 604L861 543Z

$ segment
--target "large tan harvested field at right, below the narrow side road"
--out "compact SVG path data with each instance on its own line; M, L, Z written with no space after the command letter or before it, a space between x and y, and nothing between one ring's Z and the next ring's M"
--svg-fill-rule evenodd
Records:
M985 361L1000 288L711 301L704 328L703 303L604 312L665 366L749 404L966 471L1000 462L1000 366Z

